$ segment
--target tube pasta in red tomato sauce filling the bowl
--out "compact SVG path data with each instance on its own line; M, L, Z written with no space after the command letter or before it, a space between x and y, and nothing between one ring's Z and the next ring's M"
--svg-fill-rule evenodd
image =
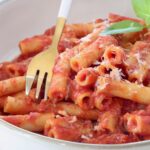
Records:
M90 144L150 139L149 31L100 36L110 23L144 21L109 14L107 20L68 24L53 69L49 99L25 96L33 56L52 42L55 27L19 42L21 54L0 64L0 118L44 136ZM42 96L41 96L42 97Z

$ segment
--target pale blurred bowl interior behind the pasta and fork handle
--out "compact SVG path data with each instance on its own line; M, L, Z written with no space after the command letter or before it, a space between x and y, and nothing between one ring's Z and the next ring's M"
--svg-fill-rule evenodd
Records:
M54 25L60 2L0 0L0 51L11 50L15 55L21 39L41 34ZM106 18L109 12L134 16L131 0L73 0L68 22L91 22L96 18ZM4 57L3 54L3 58L8 59L8 55Z

